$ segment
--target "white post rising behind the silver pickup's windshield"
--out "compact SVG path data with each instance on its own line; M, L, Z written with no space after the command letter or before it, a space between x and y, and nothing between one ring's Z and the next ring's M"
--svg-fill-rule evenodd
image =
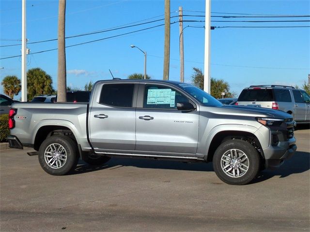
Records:
M205 0L205 32L204 32L204 82L203 90L210 93L210 61L211 61L211 0Z

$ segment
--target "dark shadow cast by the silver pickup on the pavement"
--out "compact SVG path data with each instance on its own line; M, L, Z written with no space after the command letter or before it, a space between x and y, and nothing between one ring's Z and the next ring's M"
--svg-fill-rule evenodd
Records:
M169 160L145 160L112 158L108 163L101 166L90 166L83 161L79 161L77 168L71 174L83 174L99 170L113 170L126 166L149 169L170 169L181 171L213 172L212 163L184 163ZM291 174L306 172L310 169L310 153L297 151L290 160L286 160L282 166L275 170L264 170L250 183L255 184L279 175L284 178Z

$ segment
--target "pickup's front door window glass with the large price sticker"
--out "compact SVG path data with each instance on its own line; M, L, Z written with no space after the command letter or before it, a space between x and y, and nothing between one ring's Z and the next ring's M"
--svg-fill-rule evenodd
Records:
M146 85L144 88L144 108L176 109L178 102L188 101L186 96L170 87Z

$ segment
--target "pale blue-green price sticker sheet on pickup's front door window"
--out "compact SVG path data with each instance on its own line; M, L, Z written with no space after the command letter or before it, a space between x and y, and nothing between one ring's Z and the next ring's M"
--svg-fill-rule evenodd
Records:
M148 105L170 104L170 107L174 107L175 91L172 91L170 88L148 89L146 103Z

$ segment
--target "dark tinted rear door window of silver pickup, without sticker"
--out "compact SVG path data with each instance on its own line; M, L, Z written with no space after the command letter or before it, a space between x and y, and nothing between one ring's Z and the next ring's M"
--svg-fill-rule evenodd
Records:
M116 107L132 107L135 84L105 84L100 95L100 104Z

